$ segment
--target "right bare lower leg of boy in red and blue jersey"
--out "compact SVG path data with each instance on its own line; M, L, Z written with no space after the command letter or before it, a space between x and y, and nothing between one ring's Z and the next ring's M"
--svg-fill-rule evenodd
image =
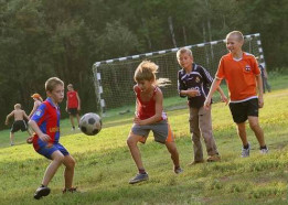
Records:
M71 188L74 177L75 160L71 155L65 155L63 164L66 166L64 171L65 188Z

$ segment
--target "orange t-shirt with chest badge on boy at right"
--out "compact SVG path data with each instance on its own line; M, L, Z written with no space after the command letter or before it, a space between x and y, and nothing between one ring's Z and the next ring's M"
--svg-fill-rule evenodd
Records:
M244 52L237 61L228 53L220 60L216 78L226 79L231 101L245 101L257 97L257 75L260 75L260 69L254 55Z

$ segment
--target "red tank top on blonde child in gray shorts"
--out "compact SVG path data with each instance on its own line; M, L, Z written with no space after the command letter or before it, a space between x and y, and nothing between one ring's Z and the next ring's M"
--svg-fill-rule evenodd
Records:
M156 100L154 100L154 95L157 93L157 87L153 90L152 97L150 98L149 101L143 101L141 100L140 97L140 88L136 87L136 96L137 96L137 117L140 118L141 120L148 119L150 117L153 117L156 115ZM162 118L161 120L167 119L166 114L162 111ZM161 121L159 120L159 121Z

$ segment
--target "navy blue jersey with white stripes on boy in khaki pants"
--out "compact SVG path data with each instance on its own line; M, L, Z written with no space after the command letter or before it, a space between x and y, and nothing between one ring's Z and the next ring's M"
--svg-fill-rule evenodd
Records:
M192 72L186 73L183 68L178 72L178 91L180 97L181 90L198 89L199 95L195 97L189 97L189 106L193 108L201 108L204 105L206 96L209 94L210 86L213 82L210 73L201 65L192 64Z

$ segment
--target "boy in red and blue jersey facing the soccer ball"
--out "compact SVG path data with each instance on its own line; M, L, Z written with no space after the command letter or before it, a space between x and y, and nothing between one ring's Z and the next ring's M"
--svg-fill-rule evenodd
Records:
M64 164L65 192L75 192L72 186L74 177L75 160L68 151L58 142L60 140L60 107L58 104L64 98L64 83L57 77L49 78L45 83L47 99L43 101L29 125L35 131L33 138L34 150L52 160L47 166L41 186L34 194L35 199L50 194L47 187L61 164Z

